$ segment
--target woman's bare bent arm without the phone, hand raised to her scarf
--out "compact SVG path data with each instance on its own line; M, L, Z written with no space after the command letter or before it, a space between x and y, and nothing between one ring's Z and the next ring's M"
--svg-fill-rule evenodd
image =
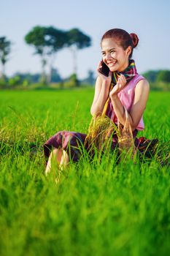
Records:
M121 82L120 82L121 83ZM109 96L112 99L112 105L113 109L115 111L115 115L117 116L117 119L120 121L121 124L125 124L125 110L123 108L122 103L120 102L119 97L117 96L117 93L121 91L121 87L123 89L124 86L121 86L118 84L115 91L111 91ZM139 124L140 119L142 118L142 115L144 113L144 109L147 105L147 99L150 91L150 85L147 82L146 79L140 80L139 83L136 84L135 88L135 96L134 96L134 103L131 107L130 113L129 113L129 121L131 124L131 128L134 131L136 129L137 125Z

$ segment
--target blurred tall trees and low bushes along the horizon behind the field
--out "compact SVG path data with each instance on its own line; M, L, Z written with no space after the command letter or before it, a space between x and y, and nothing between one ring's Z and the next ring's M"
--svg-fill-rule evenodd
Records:
M9 80L9 85L18 85L19 83L25 84L33 82L47 85L54 82L61 82L62 79L58 74L58 70L54 69L53 64L56 59L57 53L63 48L69 48L72 52L74 69L70 79L75 86L79 85L77 79L77 50L90 47L92 40L84 34L80 29L74 28L69 31L56 29L53 26L34 26L28 34L25 35L24 40L27 45L34 49L34 54L39 56L41 64L41 73L36 75L31 74L16 74L14 78ZM9 61L9 54L12 51L12 42L7 37L0 37L0 83L7 83L7 76L5 74L5 67ZM47 66L49 72L46 72ZM145 78L151 83L152 89L169 89L170 83L170 70L150 70L144 72ZM93 83L95 80L93 72L89 70L88 78L85 80L87 83Z

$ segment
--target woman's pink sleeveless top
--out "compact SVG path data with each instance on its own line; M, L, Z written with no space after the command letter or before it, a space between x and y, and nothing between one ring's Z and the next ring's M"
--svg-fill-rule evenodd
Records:
M120 102L122 102L122 105L130 112L131 106L134 102L134 94L135 94L135 87L136 84L140 81L145 79L142 75L135 75L134 78L127 83L125 88L121 90L118 93L118 97L120 99ZM117 124L117 116L115 115L115 112L112 107L111 99L109 99L108 105L107 105L107 112L106 115L115 123ZM141 120L139 121L139 124L137 125L136 129L142 130L144 129L144 121L143 116Z

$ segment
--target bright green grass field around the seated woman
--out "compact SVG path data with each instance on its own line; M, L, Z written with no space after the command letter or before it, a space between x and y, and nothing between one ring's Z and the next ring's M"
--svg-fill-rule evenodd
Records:
M169 93L151 92L147 138L169 140ZM169 167L86 160L45 177L42 145L87 132L93 89L0 91L0 255L168 255ZM31 148L36 143L36 151Z

